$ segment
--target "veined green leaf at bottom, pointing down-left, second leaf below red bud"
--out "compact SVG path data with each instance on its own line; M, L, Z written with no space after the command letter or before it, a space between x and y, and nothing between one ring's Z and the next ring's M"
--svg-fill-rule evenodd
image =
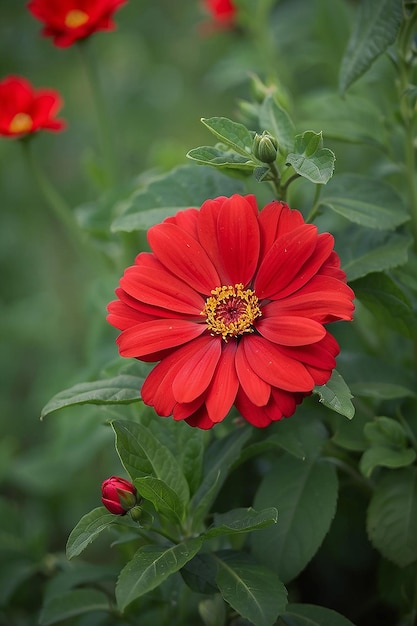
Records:
M174 546L142 546L122 569L116 585L117 606L128 604L158 587L178 572L201 548L202 539L187 539Z

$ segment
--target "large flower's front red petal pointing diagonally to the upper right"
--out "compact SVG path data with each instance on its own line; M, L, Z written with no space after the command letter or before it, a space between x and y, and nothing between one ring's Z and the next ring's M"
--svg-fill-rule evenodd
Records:
M279 237L265 255L256 276L258 298L277 298L287 286L292 287L294 277L311 257L316 244L317 228L313 224L299 226Z

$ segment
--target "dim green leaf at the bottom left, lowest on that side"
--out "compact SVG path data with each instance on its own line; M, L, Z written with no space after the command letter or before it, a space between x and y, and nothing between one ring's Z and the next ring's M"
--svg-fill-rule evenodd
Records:
M39 623L48 626L90 611L110 612L106 594L96 589L73 589L45 604Z

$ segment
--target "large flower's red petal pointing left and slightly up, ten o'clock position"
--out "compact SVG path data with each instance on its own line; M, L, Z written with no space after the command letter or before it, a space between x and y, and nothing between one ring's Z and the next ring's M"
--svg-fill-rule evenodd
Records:
M163 267L128 267L120 286L133 298L169 311L198 316L204 308L200 294Z

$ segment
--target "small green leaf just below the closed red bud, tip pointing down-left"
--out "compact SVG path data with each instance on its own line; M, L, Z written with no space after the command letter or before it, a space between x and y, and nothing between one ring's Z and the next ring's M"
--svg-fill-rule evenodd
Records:
M73 559L81 554L111 524L140 528L139 524L133 522L130 517L113 515L104 506L100 506L83 515L71 531L67 541L67 558Z

